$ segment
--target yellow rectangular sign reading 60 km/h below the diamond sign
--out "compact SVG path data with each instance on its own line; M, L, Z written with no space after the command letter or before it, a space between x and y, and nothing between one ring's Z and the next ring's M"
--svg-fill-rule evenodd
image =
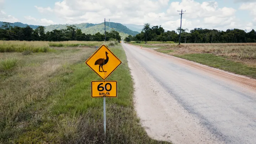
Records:
M91 97L117 97L117 81L91 81Z

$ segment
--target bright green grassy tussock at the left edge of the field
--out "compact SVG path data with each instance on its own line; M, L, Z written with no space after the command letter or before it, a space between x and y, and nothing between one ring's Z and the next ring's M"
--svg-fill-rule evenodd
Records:
M1 59L0 60L0 70L8 71L12 70L17 65L18 60L14 57Z

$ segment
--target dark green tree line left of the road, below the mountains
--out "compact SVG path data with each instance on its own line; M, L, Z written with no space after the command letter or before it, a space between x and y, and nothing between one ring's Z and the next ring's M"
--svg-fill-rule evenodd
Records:
M82 33L76 26L66 26L65 29L45 32L44 26L39 26L33 30L30 26L11 26L11 23L4 22L0 27L0 40L18 41L105 41L105 34L97 32L95 34ZM116 39L121 41L121 36L117 31L106 32L106 40Z

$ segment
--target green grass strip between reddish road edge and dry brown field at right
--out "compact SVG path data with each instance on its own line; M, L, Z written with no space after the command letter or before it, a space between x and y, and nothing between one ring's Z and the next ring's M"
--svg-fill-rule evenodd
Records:
M249 76L256 78L256 68L247 66L246 64L234 62L224 57L214 54L184 54L174 55L179 58L191 60L193 62L201 63L204 65L212 66L214 68L229 71L231 73Z

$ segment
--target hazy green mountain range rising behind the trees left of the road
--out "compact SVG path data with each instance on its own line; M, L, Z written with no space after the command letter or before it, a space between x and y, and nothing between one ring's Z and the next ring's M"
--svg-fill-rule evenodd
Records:
M2 25L4 25L4 24L3 24L3 22L0 21L0 26L2 26ZM18 26L18 27L30 26L33 29L36 29L37 27L39 27L37 25L28 25L28 24L24 24L24 23L21 23L21 22L15 22L15 23L11 24L11 26L13 26L13 27L14 26ZM61 24L59 24L59 25L45 26L45 28L46 28L46 32L47 32L47 31L52 31L54 29L56 29L56 30L65 29L66 26L76 26L78 29L81 29L82 32L85 33L85 34L95 34L97 32L104 33L104 23L98 23L98 24L80 23L80 24L72 24L72 25L69 25L69 24L61 25ZM135 36L136 34L141 32L142 28L140 30L140 27L138 28L138 25L133 25L133 24L128 24L126 26L126 25L122 25L121 23L106 22L106 31L108 32L108 31L111 31L111 30L118 31L120 36L122 38L125 38L128 35Z

